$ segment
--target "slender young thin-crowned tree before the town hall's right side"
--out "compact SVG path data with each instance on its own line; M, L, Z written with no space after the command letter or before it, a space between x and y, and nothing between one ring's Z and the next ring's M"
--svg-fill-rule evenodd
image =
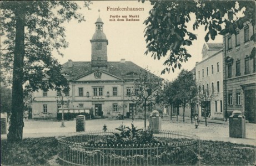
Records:
M151 74L147 70L140 70L138 79L134 81L131 93L132 100L144 107L144 128L146 129L147 105L155 103L155 98L162 89L162 79Z

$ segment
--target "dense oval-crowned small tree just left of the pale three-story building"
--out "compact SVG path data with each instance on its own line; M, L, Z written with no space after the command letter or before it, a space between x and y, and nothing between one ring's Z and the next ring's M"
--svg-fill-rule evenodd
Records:
M183 69L179 73L177 81L177 98L179 98L179 101L183 107L183 122L185 122L185 107L188 105L188 103L191 103L193 98L195 98L197 95L194 75L192 72Z

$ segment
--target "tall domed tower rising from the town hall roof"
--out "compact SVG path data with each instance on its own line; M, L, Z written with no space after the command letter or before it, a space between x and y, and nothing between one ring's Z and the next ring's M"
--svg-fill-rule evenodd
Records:
M99 17L96 21L96 32L93 34L92 40L92 66L94 67L107 67L107 45L108 40L103 32L103 22Z

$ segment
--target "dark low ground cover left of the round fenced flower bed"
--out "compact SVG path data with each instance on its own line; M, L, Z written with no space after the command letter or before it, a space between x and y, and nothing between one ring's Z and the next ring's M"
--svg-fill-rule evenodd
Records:
M46 165L57 155L58 141L54 137L26 138L21 143L1 140L1 165Z

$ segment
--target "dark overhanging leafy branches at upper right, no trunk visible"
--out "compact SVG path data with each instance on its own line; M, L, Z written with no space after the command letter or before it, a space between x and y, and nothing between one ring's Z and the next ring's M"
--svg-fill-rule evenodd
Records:
M142 1L144 2L144 1ZM145 54L152 53L154 59L167 57L162 73L170 68L180 69L181 63L191 57L185 46L192 45L197 37L188 31L187 23L192 22L191 14L195 14L193 29L204 26L207 31L205 42L215 39L219 34L234 34L243 28L243 22L255 25L254 1L155 1L150 0L153 8L144 24L147 42ZM256 40L255 33L251 40Z

